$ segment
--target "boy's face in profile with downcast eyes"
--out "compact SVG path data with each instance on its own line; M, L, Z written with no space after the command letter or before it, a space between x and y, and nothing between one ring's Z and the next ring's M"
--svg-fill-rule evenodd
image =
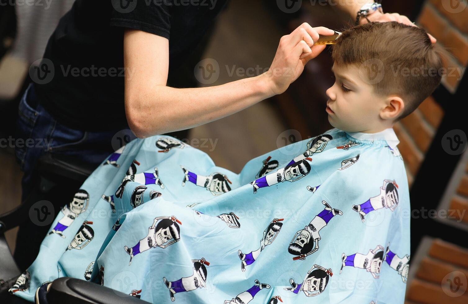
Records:
M354 65L333 64L335 83L326 94L330 124L347 132L372 132L381 128L379 116L385 99L373 93L373 85L361 77Z

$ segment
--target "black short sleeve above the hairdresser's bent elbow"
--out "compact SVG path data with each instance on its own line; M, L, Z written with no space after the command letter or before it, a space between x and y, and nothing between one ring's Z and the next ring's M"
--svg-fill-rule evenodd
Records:
M169 39L172 0L112 0L110 26L138 29Z

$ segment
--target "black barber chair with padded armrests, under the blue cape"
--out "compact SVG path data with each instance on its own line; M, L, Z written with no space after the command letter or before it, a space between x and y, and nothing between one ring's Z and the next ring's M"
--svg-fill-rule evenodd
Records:
M73 194L94 169L87 164L77 163L69 156L46 153L38 160L34 174L36 186L29 196L14 210L0 214L0 303L29 303L8 293L8 289L15 284L21 271L10 253L4 232L25 223L25 221L31 221L31 206L38 201L64 202L65 199L66 202L68 198L73 197ZM54 203L55 212L53 214L56 215L62 207L61 205L64 204ZM39 214L37 216L39 217ZM41 240L44 239L48 227L49 225L46 225L42 228L43 232L39 234L42 236ZM40 230L41 227L37 226L37 229ZM39 303L147 303L137 297L93 282L68 277L53 281L50 288L47 288L47 292L44 290L44 298L45 301L41 300Z

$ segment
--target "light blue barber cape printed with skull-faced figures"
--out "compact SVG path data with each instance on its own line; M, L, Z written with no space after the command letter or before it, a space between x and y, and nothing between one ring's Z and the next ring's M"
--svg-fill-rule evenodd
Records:
M59 212L10 292L33 301L69 276L151 303L403 303L398 143L393 129L331 129L235 174L176 138L135 139Z

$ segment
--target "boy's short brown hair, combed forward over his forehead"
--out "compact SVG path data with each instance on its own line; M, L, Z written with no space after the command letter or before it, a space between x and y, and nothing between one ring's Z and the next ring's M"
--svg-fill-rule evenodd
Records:
M405 101L400 120L427 98L441 80L442 52L424 29L400 22L370 22L346 29L332 46L336 65L355 65L380 96Z

